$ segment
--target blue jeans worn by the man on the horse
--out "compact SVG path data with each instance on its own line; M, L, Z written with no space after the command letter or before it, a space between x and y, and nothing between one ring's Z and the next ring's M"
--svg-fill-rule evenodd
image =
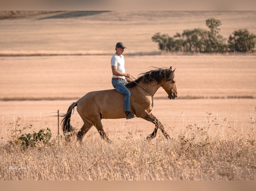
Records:
M131 105L131 93L130 91L125 87L125 85L128 82L125 80L112 80L113 87L121 94L124 95L124 110L130 111L130 105Z

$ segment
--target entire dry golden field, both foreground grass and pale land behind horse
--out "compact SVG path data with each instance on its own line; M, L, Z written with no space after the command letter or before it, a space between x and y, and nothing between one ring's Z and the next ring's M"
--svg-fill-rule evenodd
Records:
M254 54L167 54L151 41L222 22L225 38L237 29L256 34L256 12L58 12L0 20L1 180L255 180L256 65ZM178 96L163 89L153 113L172 138L143 119L103 119L113 144L92 128L83 143L57 136L57 110L88 92L112 89L115 43L128 47L133 77L150 67L176 68ZM71 124L82 120L76 110ZM22 148L13 130L50 128L52 145ZM61 130L61 129L60 129ZM61 131L60 131L61 133ZM20 168L20 169L18 169Z

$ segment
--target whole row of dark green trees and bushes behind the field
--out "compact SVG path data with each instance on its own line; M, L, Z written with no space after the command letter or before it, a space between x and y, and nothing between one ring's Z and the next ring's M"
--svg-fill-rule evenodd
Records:
M221 21L215 18L207 19L209 30L195 28L176 33L173 37L168 34L156 33L152 41L158 43L159 49L167 52L191 53L226 53L226 52L254 52L256 35L247 29L235 30L229 39L219 34Z

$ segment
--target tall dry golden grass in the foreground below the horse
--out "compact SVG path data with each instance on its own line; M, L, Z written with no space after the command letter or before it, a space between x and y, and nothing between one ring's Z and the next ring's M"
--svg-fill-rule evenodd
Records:
M248 123L206 117L147 141L136 132L109 144L89 134L82 144L53 138L24 148L2 143L1 180L255 180L255 117Z

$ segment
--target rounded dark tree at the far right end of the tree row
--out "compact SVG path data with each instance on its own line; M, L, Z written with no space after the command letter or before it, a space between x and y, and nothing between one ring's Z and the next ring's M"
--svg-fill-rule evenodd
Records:
M228 47L230 52L254 52L256 35L247 29L239 29L229 36Z

